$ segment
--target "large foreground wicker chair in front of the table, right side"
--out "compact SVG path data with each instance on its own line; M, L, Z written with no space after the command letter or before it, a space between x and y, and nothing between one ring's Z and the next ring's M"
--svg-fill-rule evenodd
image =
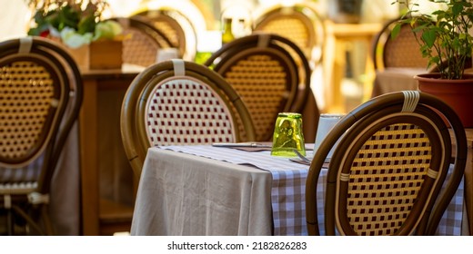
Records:
M327 172L327 235L334 235L336 226L341 235L435 233L467 160L465 131L446 103L418 91L386 93L341 119L307 175L307 230L312 235L318 234L317 178L338 139ZM450 162L454 167L444 182Z

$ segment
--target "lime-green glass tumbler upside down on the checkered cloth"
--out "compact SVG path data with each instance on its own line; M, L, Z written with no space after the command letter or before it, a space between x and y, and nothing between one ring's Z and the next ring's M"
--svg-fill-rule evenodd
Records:
M277 114L271 155L297 157L294 150L306 155L302 115L297 112L280 112Z

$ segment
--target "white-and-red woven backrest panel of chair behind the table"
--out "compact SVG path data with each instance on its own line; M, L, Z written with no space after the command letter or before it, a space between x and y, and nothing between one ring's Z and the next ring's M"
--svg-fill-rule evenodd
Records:
M152 145L235 142L226 104L205 83L187 78L156 86L146 111Z

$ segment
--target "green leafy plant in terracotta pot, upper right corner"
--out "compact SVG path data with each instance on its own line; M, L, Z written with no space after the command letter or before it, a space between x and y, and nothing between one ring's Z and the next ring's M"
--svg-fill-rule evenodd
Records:
M397 0L405 5L407 12L402 15L392 30L395 38L400 26L408 24L412 32L418 34L419 50L428 58L428 68L435 73L416 76L418 88L431 93L448 103L462 120L465 127L473 127L473 75L465 73L471 64L473 37L473 0L426 0L425 3L438 4L431 13L421 13L418 4ZM458 92L457 92L458 91Z

